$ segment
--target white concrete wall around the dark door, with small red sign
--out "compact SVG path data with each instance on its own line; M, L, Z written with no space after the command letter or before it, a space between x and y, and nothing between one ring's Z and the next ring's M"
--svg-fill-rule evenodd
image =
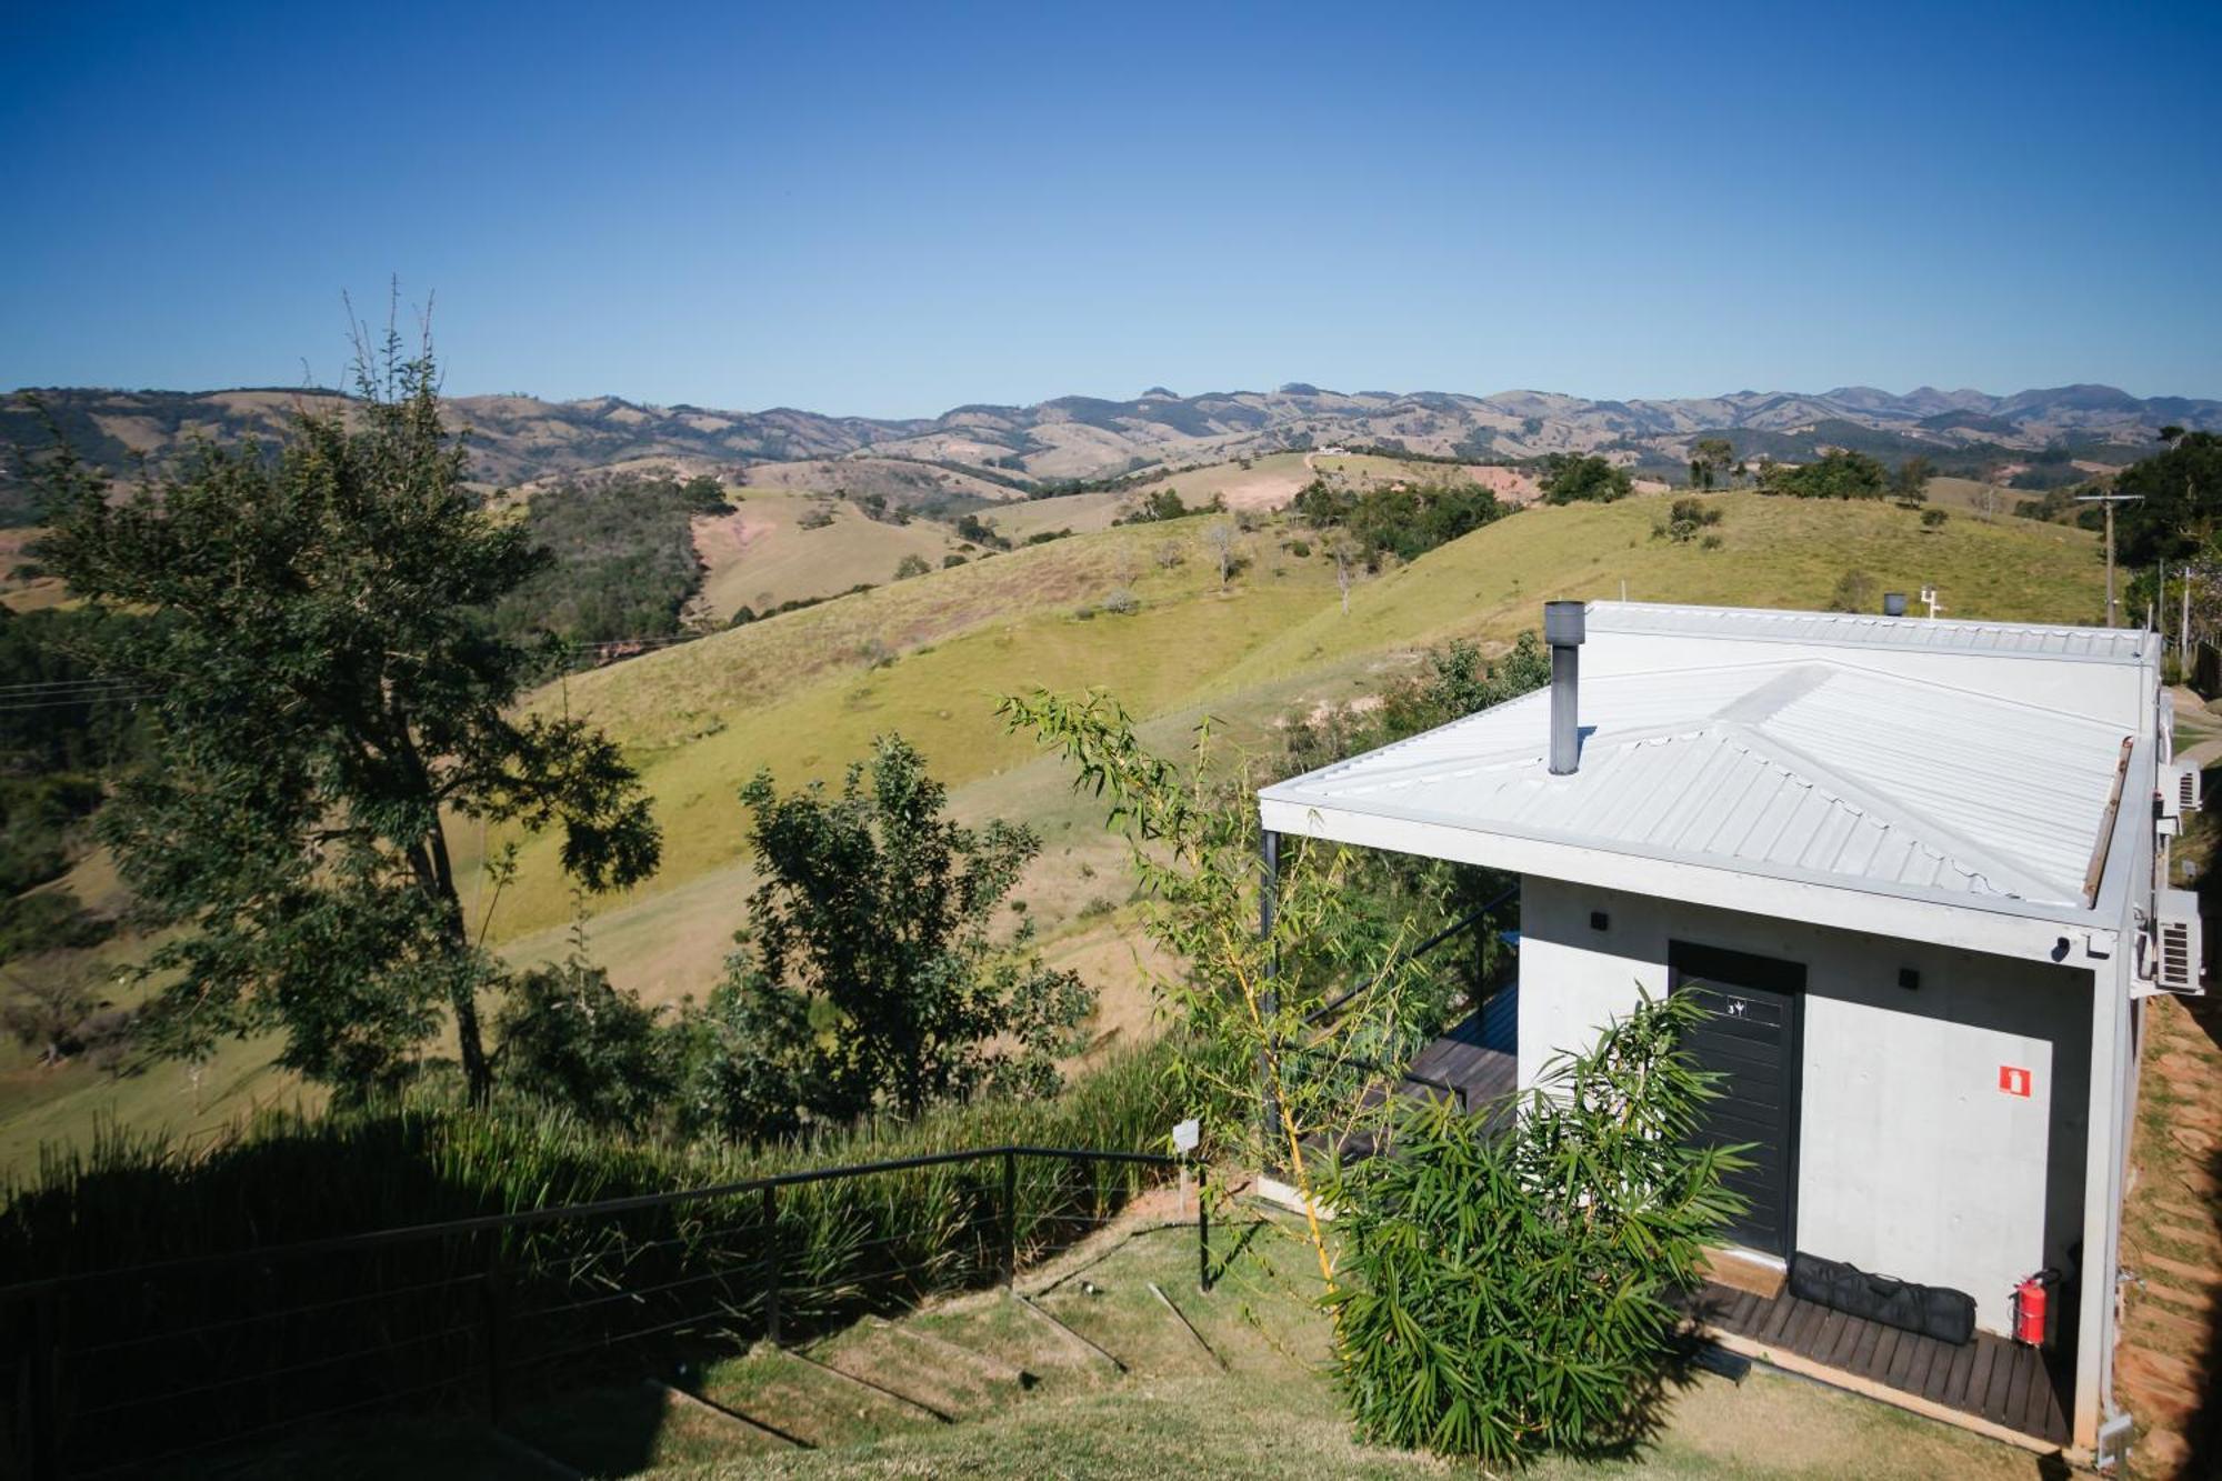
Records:
M1669 941L1804 963L1798 1248L1964 1290L1993 1332L2015 1281L2069 1265L2084 1236L2089 972L1538 876L1520 930L1522 1085L1640 990L1666 992ZM1900 967L1922 974L1918 992ZM2000 1065L2035 1076L2026 1101L1998 1090Z

